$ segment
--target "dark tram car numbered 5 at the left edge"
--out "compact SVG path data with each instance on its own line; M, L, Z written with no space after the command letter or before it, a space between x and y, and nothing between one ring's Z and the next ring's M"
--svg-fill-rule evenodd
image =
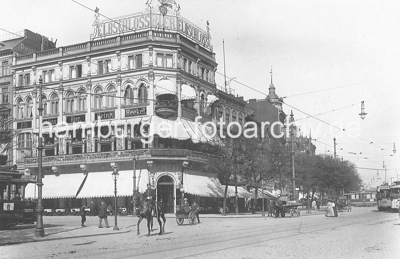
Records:
M31 178L34 175L24 175L11 168L0 169L0 227L36 221L36 203L24 199L26 184L36 182Z

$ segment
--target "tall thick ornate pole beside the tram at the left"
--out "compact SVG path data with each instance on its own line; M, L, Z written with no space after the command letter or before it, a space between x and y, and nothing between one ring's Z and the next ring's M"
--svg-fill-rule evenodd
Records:
M41 142L41 127L42 127L42 111L43 111L43 106L42 106L42 99L41 99L41 94L42 94L42 79L41 75L39 76L39 107L37 110L39 111L39 136L37 138L37 206L36 206L36 229L34 230L34 235L38 237L43 237L44 236L44 228L43 228L43 203L41 199L41 192L42 192L42 186L43 182L41 180L42 177L42 171L41 171L41 165L42 165L42 154L43 154L43 145Z

